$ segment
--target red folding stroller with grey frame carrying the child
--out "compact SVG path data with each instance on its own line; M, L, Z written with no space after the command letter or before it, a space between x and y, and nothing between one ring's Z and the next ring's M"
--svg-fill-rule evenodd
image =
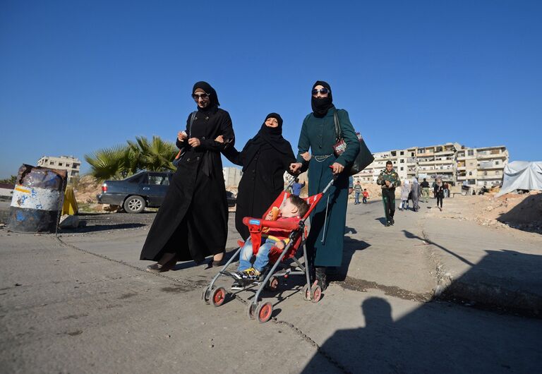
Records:
M275 200L275 202L273 202L272 205L267 209L263 217L267 217L267 213L272 210L272 207L279 207L285 199L289 198L290 193L288 193L287 190L289 186L291 186L291 183L293 183L293 180L289 183L287 188L282 191L282 193ZM248 231L250 231L251 233L251 241L254 255L258 253L258 249L260 248L263 229L269 227L290 231L287 246L283 250L280 250L277 247L273 247L270 251L270 267L267 266L267 269L261 275L258 291L256 291L254 298L247 306L248 317L252 319L255 318L260 323L267 322L271 318L271 314L273 311L272 303L270 303L270 301L266 301L265 303L260 301L260 294L264 288L270 291L275 291L279 286L279 277L287 278L290 275L305 275L306 284L303 286L302 290L303 298L307 301L313 301L313 303L318 303L318 301L320 301L320 298L322 296L322 289L318 285L318 281L315 281L313 284L311 284L311 279L309 276L310 264L307 260L307 248L305 245L307 236L305 221L308 216L311 215L311 212L314 210L316 205L318 205L320 199L332 186L332 184L333 180L330 181L327 186L325 186L324 190L321 193L305 199L309 205L308 212L306 212L306 215L304 217L299 219L299 222L267 221L265 219L253 217L243 218L243 224L246 224L248 226ZM224 287L215 287L214 284L221 275L231 277L231 273L226 269L234 261L234 259L239 258L244 243L243 241L238 241L238 243L239 248L234 253L234 255L231 256L226 265L222 267L222 270L220 270L218 274L215 275L210 284L205 287L205 289L203 289L202 299L206 303L212 303L212 305L214 306L221 306L222 303L224 303L224 299L226 298L226 289L224 289ZM303 263L301 263L300 260L296 258L296 252L299 250L300 247L303 247ZM285 264L285 261L290 259L293 261L293 264L295 264L295 266L291 266L293 264ZM280 269L277 270L279 267Z

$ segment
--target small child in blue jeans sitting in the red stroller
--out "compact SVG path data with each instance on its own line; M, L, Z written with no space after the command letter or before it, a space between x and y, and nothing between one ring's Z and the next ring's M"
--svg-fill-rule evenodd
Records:
M265 217L268 221L299 221L306 215L309 205L305 200L296 195L290 195L284 199L280 209L274 207ZM239 267L236 272L231 272L231 276L236 280L231 285L232 290L243 289L246 282L253 282L260 278L262 271L269 263L269 253L273 246L282 250L287 246L289 231L278 228L266 228L262 231L262 243L258 254L255 255L253 263L252 241L248 239L241 249L239 256Z

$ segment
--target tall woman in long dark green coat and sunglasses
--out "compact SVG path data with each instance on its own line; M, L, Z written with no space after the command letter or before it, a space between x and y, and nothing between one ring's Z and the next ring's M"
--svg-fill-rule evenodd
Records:
M311 231L307 238L309 260L315 267L318 284L325 289L325 267L340 266L342 263L348 203L348 174L343 171L358 155L359 140L348 112L335 109L330 85L321 80L313 85L311 105L313 112L303 120L299 154L290 169L293 173L299 173L308 167L309 195L322 192L327 183L335 178L333 186L311 214ZM333 145L337 143L335 112L347 143L347 149L339 157L333 153ZM307 161L309 150L312 154L310 162Z

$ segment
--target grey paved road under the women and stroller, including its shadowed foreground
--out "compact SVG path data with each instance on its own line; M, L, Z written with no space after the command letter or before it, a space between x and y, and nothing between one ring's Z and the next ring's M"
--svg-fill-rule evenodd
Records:
M6 373L538 371L542 321L427 302L438 284L436 260L426 256L433 244L416 238L424 238L430 214L398 212L395 227L387 228L380 209L349 207L345 265L323 300L303 301L300 283L289 279L278 294L264 295L275 305L275 320L265 325L246 317L243 301L251 291L219 308L200 300L213 268L188 262L162 275L143 271L147 263L138 255L152 214L83 217L87 227L59 239L0 229L0 367ZM232 248L236 234L232 228L229 234Z

